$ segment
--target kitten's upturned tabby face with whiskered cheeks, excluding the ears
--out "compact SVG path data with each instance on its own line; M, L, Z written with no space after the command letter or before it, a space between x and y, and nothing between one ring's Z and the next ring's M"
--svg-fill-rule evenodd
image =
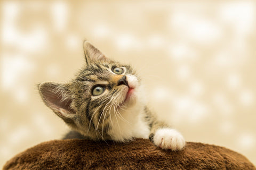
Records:
M134 107L139 97L139 78L129 65L116 62L91 63L72 84L73 106L86 133L107 135L113 118Z

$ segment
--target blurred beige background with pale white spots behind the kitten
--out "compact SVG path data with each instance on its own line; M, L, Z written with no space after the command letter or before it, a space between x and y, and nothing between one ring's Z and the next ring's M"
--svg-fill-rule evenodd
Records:
M36 84L73 78L83 40L131 63L187 141L256 164L256 1L1 1L0 166L68 131Z

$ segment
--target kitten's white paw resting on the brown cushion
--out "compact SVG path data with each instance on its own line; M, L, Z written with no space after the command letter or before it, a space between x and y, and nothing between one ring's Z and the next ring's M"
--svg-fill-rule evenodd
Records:
M186 145L180 132L170 128L158 129L153 141L157 147L162 149L182 150Z

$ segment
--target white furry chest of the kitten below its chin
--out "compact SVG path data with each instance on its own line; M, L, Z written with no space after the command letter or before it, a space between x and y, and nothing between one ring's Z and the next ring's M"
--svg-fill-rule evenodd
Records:
M109 135L113 140L125 141L132 138L148 138L150 129L142 113L131 111L112 116Z

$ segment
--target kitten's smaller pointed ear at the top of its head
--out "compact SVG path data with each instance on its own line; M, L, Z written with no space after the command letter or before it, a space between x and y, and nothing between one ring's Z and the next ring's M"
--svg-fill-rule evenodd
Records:
M87 64L93 61L107 61L108 58L88 41L84 41L84 55Z

